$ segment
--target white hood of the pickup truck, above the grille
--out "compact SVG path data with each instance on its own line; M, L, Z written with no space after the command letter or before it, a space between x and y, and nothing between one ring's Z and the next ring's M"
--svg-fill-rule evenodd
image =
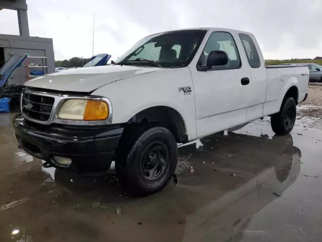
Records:
M166 70L156 67L103 66L56 72L25 82L25 86L58 91L91 92L131 76Z

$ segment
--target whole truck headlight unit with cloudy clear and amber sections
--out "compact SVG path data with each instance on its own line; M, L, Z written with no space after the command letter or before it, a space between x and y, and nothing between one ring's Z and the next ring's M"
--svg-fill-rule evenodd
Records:
M109 106L102 100L68 99L58 112L58 118L95 121L109 116Z

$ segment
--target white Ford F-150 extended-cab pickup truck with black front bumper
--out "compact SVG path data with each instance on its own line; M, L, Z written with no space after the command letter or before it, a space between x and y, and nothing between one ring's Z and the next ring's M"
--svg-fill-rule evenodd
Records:
M53 73L24 84L17 140L44 166L108 170L132 193L163 189L177 143L271 116L289 133L308 91L307 66L265 66L253 34L184 29L138 41L113 65Z

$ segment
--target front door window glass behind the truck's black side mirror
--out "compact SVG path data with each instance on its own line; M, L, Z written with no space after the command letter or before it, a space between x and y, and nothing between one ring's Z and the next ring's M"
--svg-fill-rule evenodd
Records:
M212 33L199 58L198 65L201 67L207 66L208 54L214 50L225 51L228 55L228 63L224 66L213 67L213 70L237 69L241 66L236 43L231 34L226 32Z

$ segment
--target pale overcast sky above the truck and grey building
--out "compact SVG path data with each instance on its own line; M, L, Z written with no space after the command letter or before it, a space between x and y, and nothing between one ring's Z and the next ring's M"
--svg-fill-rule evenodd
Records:
M27 0L31 36L53 39L55 59L116 59L142 37L189 27L255 34L266 59L322 56L322 1L311 0ZM17 12L0 11L0 33L19 34Z

